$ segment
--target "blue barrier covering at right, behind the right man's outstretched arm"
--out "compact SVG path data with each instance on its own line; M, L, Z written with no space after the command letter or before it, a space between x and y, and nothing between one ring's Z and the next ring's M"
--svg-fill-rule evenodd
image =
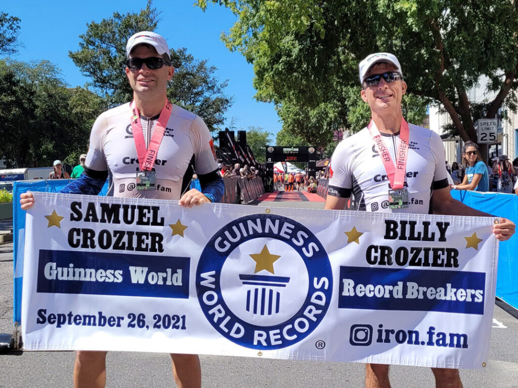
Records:
M518 196L514 194L452 190L452 197L477 210L518 224ZM518 308L518 234L500 243L496 296Z

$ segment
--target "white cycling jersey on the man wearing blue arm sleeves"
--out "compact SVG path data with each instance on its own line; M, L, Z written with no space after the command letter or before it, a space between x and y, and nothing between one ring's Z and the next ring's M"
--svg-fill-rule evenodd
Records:
M130 103L125 103L101 114L92 127L85 166L91 170L108 171L109 196L178 200L182 187L183 191L188 188L193 167L199 175L218 170L212 137L203 120L172 105L154 163L156 189L137 190L139 163L131 118ZM140 118L147 147L158 116Z

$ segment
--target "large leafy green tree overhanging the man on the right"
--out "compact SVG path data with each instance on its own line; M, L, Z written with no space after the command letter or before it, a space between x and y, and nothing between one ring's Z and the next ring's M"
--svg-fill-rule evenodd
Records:
M420 116L430 101L440 103L462 139L476 141L474 120L495 117L503 103L516 110L516 0L210 2L238 17L222 38L253 63L259 100L311 110L338 103L346 108L336 121L348 128L355 104L346 89L359 93L358 62L388 51L400 59L413 96L407 116L414 106ZM203 9L207 3L198 0ZM469 90L482 78L495 97L472 109Z

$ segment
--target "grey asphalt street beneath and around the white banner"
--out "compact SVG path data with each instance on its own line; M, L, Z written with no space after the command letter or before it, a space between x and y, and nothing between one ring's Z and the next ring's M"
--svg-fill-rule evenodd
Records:
M263 202L258 206L323 208L316 202ZM505 306L504 306L505 307ZM488 365L463 370L465 387L518 388L518 314L495 306ZM0 245L0 333L12 331L12 243ZM201 356L203 386L220 387L362 387L363 364L279 361ZM0 388L68 387L73 352L17 352L0 355ZM392 367L393 387L435 386L428 368ZM108 355L109 387L171 387L168 355Z

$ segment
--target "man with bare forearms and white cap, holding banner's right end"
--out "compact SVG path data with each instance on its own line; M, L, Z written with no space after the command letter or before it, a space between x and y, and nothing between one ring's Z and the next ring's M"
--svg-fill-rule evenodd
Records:
M403 118L401 99L407 84L398 59L390 53L367 56L359 63L359 80L371 121L338 144L325 208L343 209L354 193L357 210L490 217L452 199L441 138ZM514 223L505 218L494 227L501 241L508 240L514 230ZM432 370L437 388L462 387L458 370ZM365 386L390 388L389 365L367 364Z

